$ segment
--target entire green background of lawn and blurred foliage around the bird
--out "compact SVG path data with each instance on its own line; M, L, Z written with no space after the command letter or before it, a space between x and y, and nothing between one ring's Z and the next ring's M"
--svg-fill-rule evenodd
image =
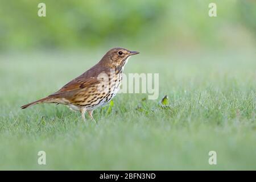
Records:
M20 110L112 47L141 52L125 73L159 73L157 100L117 94L97 125L61 105ZM255 68L255 0L1 0L0 169L256 169Z

